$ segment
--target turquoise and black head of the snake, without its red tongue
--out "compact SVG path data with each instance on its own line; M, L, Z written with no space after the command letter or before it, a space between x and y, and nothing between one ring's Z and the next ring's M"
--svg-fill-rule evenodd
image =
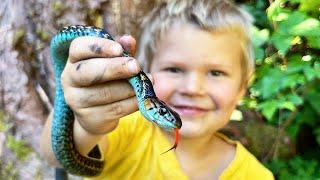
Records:
M147 98L144 100L146 118L156 123L165 130L180 129L182 122L178 113L168 107L158 98Z

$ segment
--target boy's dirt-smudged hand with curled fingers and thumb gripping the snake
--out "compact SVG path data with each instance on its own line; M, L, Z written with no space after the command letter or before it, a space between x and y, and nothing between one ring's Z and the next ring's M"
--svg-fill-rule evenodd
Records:
M121 57L122 47L133 54L135 46L135 39L127 35L118 42L96 37L72 41L61 81L75 119L89 133L108 133L119 118L138 110L126 79L140 67L134 58Z

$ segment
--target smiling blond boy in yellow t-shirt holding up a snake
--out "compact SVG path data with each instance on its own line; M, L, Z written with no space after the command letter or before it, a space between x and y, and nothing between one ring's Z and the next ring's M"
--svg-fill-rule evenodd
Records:
M182 119L180 142L145 120L126 78L138 73L135 40L81 37L70 47L62 75L75 114L74 138L86 155L99 144L105 159L97 179L273 179L239 142L217 133L229 121L254 70L250 16L226 0L169 1L144 22L139 60L157 96ZM41 147L50 144L51 116Z

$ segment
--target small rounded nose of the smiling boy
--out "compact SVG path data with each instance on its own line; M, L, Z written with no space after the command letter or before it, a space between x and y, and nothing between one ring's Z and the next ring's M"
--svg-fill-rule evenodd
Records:
M199 74L190 74L181 83L180 92L186 95L203 95L205 93L204 77Z

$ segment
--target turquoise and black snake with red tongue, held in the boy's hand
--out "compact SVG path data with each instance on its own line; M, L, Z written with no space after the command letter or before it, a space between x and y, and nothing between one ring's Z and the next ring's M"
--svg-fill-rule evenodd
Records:
M93 36L114 41L107 30L87 25L66 26L51 39L50 53L56 83L51 125L51 146L54 156L68 173L92 177L101 174L107 162L101 158L101 152L97 146L94 148L96 151L91 151L95 153L91 154L90 152L87 156L80 154L75 148L73 139L74 113L65 101L61 85L61 74L69 56L70 44L75 38L82 36ZM122 56L130 57L130 54L123 51ZM134 89L141 114L158 127L175 132L175 143L168 151L175 149L179 140L179 129L182 126L179 114L156 96L152 82L142 70L128 78L128 81Z

